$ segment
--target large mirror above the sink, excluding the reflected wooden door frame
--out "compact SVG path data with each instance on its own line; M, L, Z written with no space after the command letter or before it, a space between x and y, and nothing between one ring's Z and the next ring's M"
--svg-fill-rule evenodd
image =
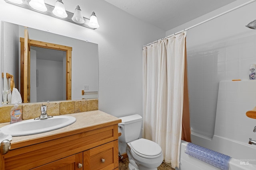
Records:
M11 82L6 73L13 76L20 92L20 37L24 37L24 29L28 29L30 40L72 47L71 99L98 98L98 44L2 21L2 104L8 104L10 98ZM31 47L30 53L36 56L30 61L30 79L34 80L30 82L30 102L66 100L66 52Z

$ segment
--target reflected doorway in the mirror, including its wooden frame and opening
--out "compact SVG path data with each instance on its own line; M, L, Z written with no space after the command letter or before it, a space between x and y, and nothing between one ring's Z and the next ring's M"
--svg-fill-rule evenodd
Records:
M44 98L48 98L51 101L58 101L58 99L71 100L72 47L27 39L29 39L28 30L25 29L24 38L20 38L20 94L22 101L24 103L45 101L42 100ZM37 49L38 51L34 51L33 49ZM42 51L53 52L53 54L44 53L41 54L40 57L40 52ZM64 63L56 62L55 58L58 57L56 54L59 53L62 54L60 60L64 60ZM65 55L63 56L63 54ZM48 57L46 57L46 55L48 55ZM40 63L35 63L36 60L34 59L37 57L40 57ZM41 68L40 74L38 69L34 69L34 64L36 64L38 68ZM37 72L36 77L33 75L32 71ZM39 78L41 80L40 86ZM34 90L35 83L36 90ZM63 86L66 88L62 88ZM31 90L34 92L33 94L30 94ZM64 94L64 92L66 93ZM63 97L61 96L62 93L64 94Z

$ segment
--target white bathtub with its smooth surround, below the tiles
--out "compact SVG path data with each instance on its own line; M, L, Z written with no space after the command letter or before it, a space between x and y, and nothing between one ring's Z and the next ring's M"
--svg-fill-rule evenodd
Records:
M256 170L256 140L253 132L256 119L246 111L256 105L256 80L220 81L214 135L207 137L191 128L192 143L231 157L229 170ZM184 152L186 141L180 145L180 164L177 170L219 170Z

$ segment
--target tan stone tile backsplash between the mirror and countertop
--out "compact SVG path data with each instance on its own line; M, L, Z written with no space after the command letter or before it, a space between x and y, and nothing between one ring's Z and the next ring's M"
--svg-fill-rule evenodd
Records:
M45 103L44 103L45 104ZM98 110L98 99L90 100L66 100L61 102L49 102L47 114L51 116L79 113L84 111ZM20 104L22 107L22 120L34 119L41 114L42 103ZM0 123L10 122L10 110L13 105L0 107Z

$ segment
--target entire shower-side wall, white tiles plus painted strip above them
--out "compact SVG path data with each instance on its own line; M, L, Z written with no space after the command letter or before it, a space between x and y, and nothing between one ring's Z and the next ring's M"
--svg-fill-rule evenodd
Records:
M245 2L248 1L237 0L166 31L166 35L188 28ZM204 135L206 138L214 134L220 80L248 80L250 64L256 63L256 31L245 25L256 19L255 8L256 2L188 30L188 86L192 133ZM232 116L230 121L232 122Z

